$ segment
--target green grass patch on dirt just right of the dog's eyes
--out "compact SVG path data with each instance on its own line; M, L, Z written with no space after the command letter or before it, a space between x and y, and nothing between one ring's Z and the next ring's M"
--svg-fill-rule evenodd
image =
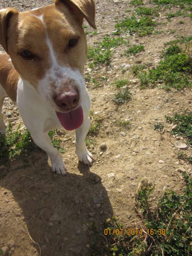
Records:
M110 58L112 56L111 48L116 48L119 45L129 45L129 41L125 40L123 37L104 37L102 42L95 42L95 47L88 46L87 58L92 60L93 64L97 63L110 63Z

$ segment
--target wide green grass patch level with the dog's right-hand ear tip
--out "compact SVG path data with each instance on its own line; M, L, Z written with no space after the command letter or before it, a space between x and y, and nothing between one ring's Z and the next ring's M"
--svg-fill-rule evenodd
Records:
M153 33L156 22L152 17L140 17L137 18L135 15L131 17L125 17L123 20L118 20L115 28L117 28L116 34L122 32L129 33L138 33L139 36L147 36Z

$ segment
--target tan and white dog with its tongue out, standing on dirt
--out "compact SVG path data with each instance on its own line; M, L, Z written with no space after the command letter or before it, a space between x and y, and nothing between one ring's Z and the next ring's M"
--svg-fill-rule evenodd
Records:
M48 135L52 129L75 130L75 153L92 164L84 143L91 107L83 79L84 18L96 29L94 0L54 0L21 13L0 10L0 44L6 52L0 53L0 132L5 132L2 106L8 95L36 145L50 157L52 172L62 175L66 167Z

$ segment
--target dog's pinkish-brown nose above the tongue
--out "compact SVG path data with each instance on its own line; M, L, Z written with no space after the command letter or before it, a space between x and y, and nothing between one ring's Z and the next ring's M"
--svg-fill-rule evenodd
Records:
M64 111L76 108L79 102L79 94L76 91L65 92L62 96L54 97L55 103Z

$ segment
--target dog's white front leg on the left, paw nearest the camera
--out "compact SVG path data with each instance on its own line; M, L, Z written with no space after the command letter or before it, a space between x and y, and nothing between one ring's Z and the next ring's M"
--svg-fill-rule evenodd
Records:
M42 148L47 155L50 157L52 164L52 172L57 173L58 175L66 174L66 166L63 163L63 159L59 151L53 147L52 141L47 133L39 133L38 135L34 132L31 132L31 137L34 140L35 144Z

